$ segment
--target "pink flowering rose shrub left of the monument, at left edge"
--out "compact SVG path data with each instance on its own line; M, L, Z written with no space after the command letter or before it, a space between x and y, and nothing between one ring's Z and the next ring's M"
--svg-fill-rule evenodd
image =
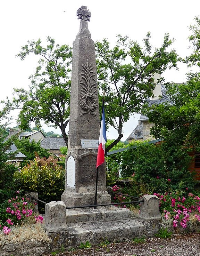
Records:
M19 191L17 191L17 194ZM4 234L9 234L10 227L16 225L22 221L25 221L28 217L33 216L33 210L35 205L29 201L29 198L24 198L19 195L12 199L8 199L5 203L1 204L0 208L0 229ZM36 223L42 223L42 216L34 216Z

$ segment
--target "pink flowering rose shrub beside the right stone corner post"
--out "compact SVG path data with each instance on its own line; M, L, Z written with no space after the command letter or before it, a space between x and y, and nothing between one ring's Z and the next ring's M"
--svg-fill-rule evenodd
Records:
M166 192L164 195L154 193L154 195L160 199L160 213L165 219L173 219L173 227L181 225L185 229L191 214L200 221L199 196L192 193L183 196L179 192Z

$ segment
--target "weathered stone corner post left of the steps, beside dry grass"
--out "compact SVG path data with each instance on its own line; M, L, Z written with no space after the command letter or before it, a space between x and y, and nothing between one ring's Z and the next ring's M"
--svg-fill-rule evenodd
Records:
M45 205L45 230L47 232L66 231L66 205L62 201L51 201Z

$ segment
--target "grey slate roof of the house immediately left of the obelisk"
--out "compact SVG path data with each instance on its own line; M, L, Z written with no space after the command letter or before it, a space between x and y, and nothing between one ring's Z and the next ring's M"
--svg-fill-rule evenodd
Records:
M60 147L66 147L66 143L62 137L46 137L41 141L40 146L43 149L59 150Z

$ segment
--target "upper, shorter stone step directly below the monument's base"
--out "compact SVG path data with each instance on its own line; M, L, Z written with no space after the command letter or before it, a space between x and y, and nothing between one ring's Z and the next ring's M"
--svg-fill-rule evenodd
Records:
M130 210L115 206L98 207L97 209L66 209L66 223L107 222L130 217Z

